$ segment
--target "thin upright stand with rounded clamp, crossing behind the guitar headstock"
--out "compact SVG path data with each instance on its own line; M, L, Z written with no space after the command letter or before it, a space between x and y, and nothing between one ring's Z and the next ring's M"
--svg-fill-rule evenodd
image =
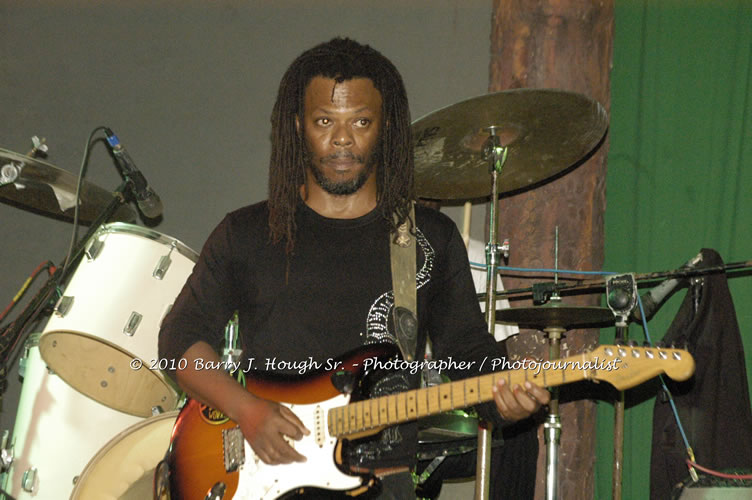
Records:
M627 322L637 304L637 282L633 274L610 277L606 281L606 302L616 317L614 343L626 342ZM614 465L611 479L613 500L621 500L622 473L624 471L624 391L619 391L614 402Z

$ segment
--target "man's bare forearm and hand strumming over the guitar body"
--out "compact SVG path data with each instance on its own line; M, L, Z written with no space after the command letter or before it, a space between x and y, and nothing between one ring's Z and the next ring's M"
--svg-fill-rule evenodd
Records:
M220 358L206 342L196 342L183 355L185 368L175 377L189 396L220 410L240 426L253 451L267 464L304 462L305 457L295 451L285 437L299 440L309 434L303 422L286 406L257 398L221 369L197 370L196 360L214 361ZM204 363L205 366L206 363Z

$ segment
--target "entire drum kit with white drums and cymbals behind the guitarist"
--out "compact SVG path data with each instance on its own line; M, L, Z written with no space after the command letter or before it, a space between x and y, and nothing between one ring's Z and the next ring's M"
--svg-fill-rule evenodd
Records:
M571 92L518 89L459 102L413 123L416 192L433 200L496 200L539 186L582 163L607 127L599 103ZM75 176L33 154L2 149L0 167L0 200L72 220ZM167 448L178 404L177 389L148 361L157 358L160 322L197 255L134 225L122 196L84 182L78 200L79 220L91 229L72 253L70 274L52 287L65 283L46 326L24 344L16 425L3 446L3 489L14 498L147 498L150 471ZM501 262L497 225L496 203L490 203L487 269ZM485 300L495 304L497 273L487 277ZM486 319L490 328L502 320L545 331L555 358L563 332L613 324L614 315L554 300L487 307ZM144 365L134 369L134 360ZM557 406L554 398L546 431L547 498L557 495ZM463 438L478 434L476 497L487 496L488 459L482 456L488 456L488 433L468 427L467 418L442 422L423 426L432 446L450 436L467 451Z

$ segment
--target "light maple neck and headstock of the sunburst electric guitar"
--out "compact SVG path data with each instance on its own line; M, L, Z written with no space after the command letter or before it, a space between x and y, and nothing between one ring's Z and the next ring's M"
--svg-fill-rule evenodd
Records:
M694 359L687 351L606 345L565 359L518 361L512 366L521 368L332 408L327 417L329 433L347 437L485 403L493 399L492 388L500 379L510 387L526 381L555 387L581 380L604 380L624 390L664 372L674 380L686 380L695 369Z

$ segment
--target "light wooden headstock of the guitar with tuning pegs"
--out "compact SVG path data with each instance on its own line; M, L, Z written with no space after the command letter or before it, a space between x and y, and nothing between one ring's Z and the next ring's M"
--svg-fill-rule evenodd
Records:
M589 378L605 380L619 390L629 389L665 373L676 381L695 372L695 360L682 349L602 345L584 354L594 367Z

